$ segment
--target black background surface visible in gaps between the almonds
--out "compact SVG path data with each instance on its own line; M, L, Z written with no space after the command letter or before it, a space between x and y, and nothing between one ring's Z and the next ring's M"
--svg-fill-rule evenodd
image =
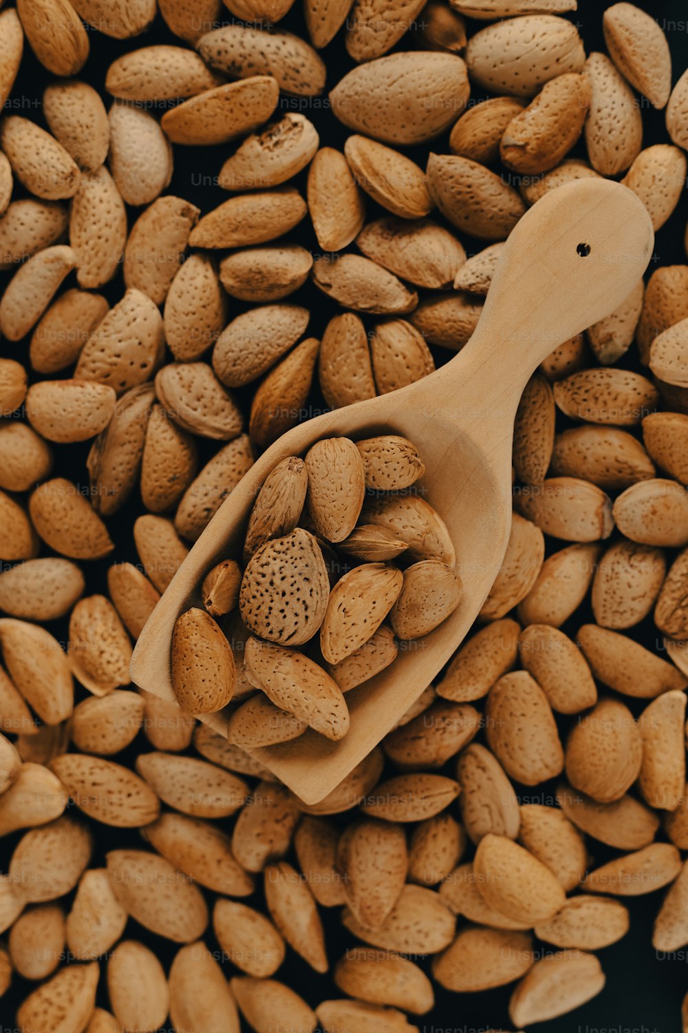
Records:
M609 5L599 4L596 0L580 0L580 9L567 15L578 24L588 53L592 51L604 51L601 18L605 6ZM673 82L676 83L688 64L688 31L686 26L688 6L685 0L671 0L671 2L662 4L641 2L638 6L658 19L666 32L674 62ZM230 12L226 9L223 9L222 17L226 22L232 20ZM480 27L480 24L468 23L470 33ZM307 38L299 0L296 0L293 9L280 23L279 28L296 32ZM77 77L86 80L101 90L107 106L109 106L110 98L104 93L103 84L107 67L117 57L131 50L152 43L184 45L182 40L169 32L160 17L158 17L148 33L134 39L113 40L91 30L89 30L89 36L91 40L91 55ZM406 49L409 49L409 41L407 37L404 37L395 50ZM331 89L341 75L353 66L353 62L343 48L341 32L322 52L322 56L328 70L327 89ZM8 102L8 106L11 105L12 113L24 115L44 125L41 114L41 97L43 89L51 80L52 76L38 64L27 48L20 76L12 92L12 97ZM473 91L471 99L474 101L479 97L480 94ZM314 98L312 101L308 98L302 99L304 100L304 106L299 109L317 125L321 145L329 145L342 149L350 131L336 121L324 98ZM640 102L643 106L645 126L644 146L655 143L669 143L664 127L664 113L655 112L643 98L640 99ZM285 103L284 96L282 103ZM158 112L155 111L155 107L151 107L150 109L153 114L161 115L164 108L161 106L161 109ZM295 109L289 99L286 100L285 109ZM276 118L279 115L280 108L275 112L274 117ZM449 150L448 135L446 133L438 140L433 142L432 149L438 152L447 152ZM409 157L413 157L421 165L424 165L430 149L424 147L403 150ZM223 161L230 153L232 153L231 145L205 149L175 147L174 175L166 192L178 194L193 201L201 209L203 214L215 208L228 196L225 191L215 186L212 181L218 175ZM584 154L582 145L579 145L571 154ZM294 183L303 193L305 192L305 174L301 174ZM21 195L22 188L18 186L14 197ZM367 197L366 204L368 219L387 214ZM137 210L129 211L130 224L133 223L137 215ZM686 260L683 250L683 230L686 225L687 215L688 200L684 192L679 208L670 218L668 224L657 234L655 255L649 273L659 264L670 264ZM437 218L437 213L433 213L432 217ZM301 226L297 227L296 231L290 234L290 239L303 244L314 251L318 250L315 234L307 219L304 220ZM469 254L481 250L485 246L484 242L476 242L465 238L462 240ZM7 274L0 274L0 284L3 289L6 281ZM73 282L70 279L65 284L65 287L72 285ZM114 304L123 293L122 278L116 278L102 292L106 294L110 304ZM328 319L335 312L335 307L332 303L324 299L310 284L301 288L297 294L292 295L290 301L297 301L299 304L306 305L312 309L313 318L308 327L308 335L320 336ZM242 303L232 301L231 315L238 314L245 307ZM7 357L28 362L28 341L18 345L2 342L0 349L2 354ZM450 353L443 352L440 349L433 349L433 352L437 365L451 357ZM632 349L627 356L624 356L620 365L640 370ZM57 376L67 375L69 373L65 371ZM32 373L31 378L36 379L35 374ZM247 417L252 394L251 390L245 390L239 397ZM323 405L323 400L319 397L317 388L313 392L312 405L315 410L320 409ZM201 445L201 462L204 462L216 450L217 444L202 441L199 443ZM57 446L55 474L69 477L78 484L86 484L85 463L88 450L88 444ZM88 580L87 593L93 594L95 592L106 591L105 574L112 561L137 561L133 544L132 526L135 518L140 512L140 498L135 493L134 497L130 499L120 513L108 522L108 530L116 541L116 551L107 561L85 565L85 572ZM556 551L559 547L561 547L561 542L551 540L548 542L548 553ZM42 555L46 554L47 551L43 549ZM590 619L590 616L585 606L581 607L569 622L569 625L564 627L564 630L576 631L582 623ZM66 622L54 622L51 625L51 630L62 640L66 638ZM651 621L647 621L632 629L632 634L649 648L661 648L661 643ZM79 687L77 687L77 693L79 694L79 698L86 695L85 691ZM624 701L629 702L627 699L624 699ZM630 700L629 705L635 712L642 709L638 706L634 706L633 700ZM117 759L133 764L134 757L138 753L146 752L151 748L141 733L127 753L119 756ZM448 765L447 774L454 774L453 766L452 763ZM552 785L542 785L534 789L522 788L524 803L553 803L554 786ZM335 818L334 820L346 822L348 816L343 815L341 819ZM105 825L95 825L94 823L92 823L92 827L96 835L96 848L92 859L92 867L98 867L103 864L104 854L108 849L126 845L141 845L136 831L113 829ZM0 868L2 870L6 870L11 851L20 837L21 834L15 834L0 842ZM615 851L607 849L595 841L589 840L588 842L592 853L591 864L594 866L616 855ZM214 895L208 893L206 896L208 903L211 903ZM572 1031L576 1031L576 1033L579 1033L579 1031L581 1033L583 1031L585 1033L593 1033L595 1030L609 1030L614 1031L614 1033L633 1033L633 1031L637 1031L637 1033L671 1033L671 1031L681 1029L681 1001L684 994L688 991L688 970L686 966L688 952L680 951L679 954L681 957L673 959L659 959L655 954L651 943L651 932L652 922L658 910L661 896L662 891L658 891L635 900L630 899L626 901L631 912L631 928L629 933L619 943L599 952L608 979L604 992L588 1005L579 1008L575 1012L563 1015L554 1022L538 1025L536 1027L538 1031L542 1031L542 1033L572 1033ZM70 899L62 903L68 909ZM248 899L248 903L262 907L262 890L259 889L255 898ZM334 909L333 911L321 909L326 925L328 952L332 965L334 965L347 947L353 944L352 938L346 934L346 931L339 924L337 912L338 909ZM125 936L140 939L148 943L160 957L166 969L169 967L177 949L174 944L149 934L133 921L129 922ZM218 944L211 932L208 933L206 942L210 949L218 949ZM536 950L542 949L545 951L553 949L547 944L538 943L536 943L535 948ZM429 971L427 960L421 960L419 964ZM101 968L104 976L104 962ZM237 974L230 965L226 965L225 969L228 977ZM321 976L314 973L292 950L288 950L287 961L276 973L276 978L283 979L296 991L300 992L313 1006L316 1006L324 999L341 996L329 976ZM0 1033L7 1033L15 1025L15 1007L30 993L33 987L34 984L17 977L14 978L12 988L0 1000ZM101 978L98 1003L103 1007L108 1007L104 988L105 980ZM431 1033L431 1031L432 1033L443 1033L443 1031L452 1031L452 1033L472 1033L472 1031L477 1031L478 1033L478 1031L490 1028L510 1028L506 1006L512 989L513 987L506 987L501 990L478 995L457 995L443 991L441 988L436 987L436 1005L433 1012L425 1016L420 1016L418 1020L409 1016L409 1021L415 1022L424 1033ZM199 993L202 993L202 988L199 988Z

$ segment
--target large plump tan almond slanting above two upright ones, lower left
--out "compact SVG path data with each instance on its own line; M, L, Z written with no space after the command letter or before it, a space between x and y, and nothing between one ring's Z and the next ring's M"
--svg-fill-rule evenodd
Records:
M131 918L174 943L202 936L208 917L205 901L164 857L122 849L110 850L105 860L114 895Z

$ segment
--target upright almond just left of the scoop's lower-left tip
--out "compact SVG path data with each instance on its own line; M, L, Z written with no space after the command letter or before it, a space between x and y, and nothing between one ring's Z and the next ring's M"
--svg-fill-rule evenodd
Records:
M131 643L114 606L104 595L80 599L69 619L69 662L90 692L102 696L129 685Z

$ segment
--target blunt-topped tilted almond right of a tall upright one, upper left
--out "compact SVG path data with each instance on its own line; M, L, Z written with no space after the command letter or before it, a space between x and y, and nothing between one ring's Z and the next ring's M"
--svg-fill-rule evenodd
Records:
M131 227L124 250L124 282L162 305L184 262L199 210L182 197L159 197Z

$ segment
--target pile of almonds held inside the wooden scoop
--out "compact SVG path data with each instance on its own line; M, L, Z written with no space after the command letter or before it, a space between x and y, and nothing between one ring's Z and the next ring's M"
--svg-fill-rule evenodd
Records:
M210 714L248 694L227 729L243 749L288 742L307 727L343 739L342 693L388 667L397 638L421 639L459 603L449 531L406 491L424 472L416 446L398 435L330 438L304 460L279 463L249 518L243 573L236 560L223 560L203 582L205 609L192 607L175 622L179 707ZM411 563L402 572L390 560ZM233 627L223 631L214 618L237 604ZM294 649L314 645L318 632L322 663Z

